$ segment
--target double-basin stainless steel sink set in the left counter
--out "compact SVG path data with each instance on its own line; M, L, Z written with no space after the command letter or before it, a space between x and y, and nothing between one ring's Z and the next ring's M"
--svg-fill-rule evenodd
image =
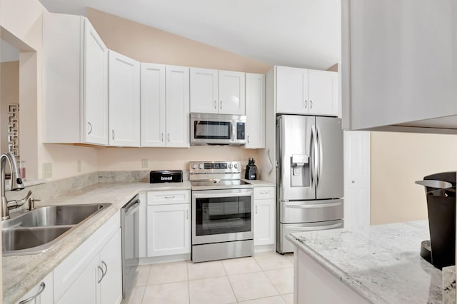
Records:
M2 221L3 255L41 253L111 203L44 206Z

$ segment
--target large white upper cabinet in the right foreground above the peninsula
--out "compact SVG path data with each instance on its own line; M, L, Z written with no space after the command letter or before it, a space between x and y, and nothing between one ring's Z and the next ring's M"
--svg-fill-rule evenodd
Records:
M343 0L341 10L343 128L456 133L456 2Z

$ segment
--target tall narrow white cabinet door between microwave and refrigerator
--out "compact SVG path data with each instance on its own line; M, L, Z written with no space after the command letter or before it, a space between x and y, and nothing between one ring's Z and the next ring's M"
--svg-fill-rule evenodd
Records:
M265 148L265 75L246 73L246 145Z

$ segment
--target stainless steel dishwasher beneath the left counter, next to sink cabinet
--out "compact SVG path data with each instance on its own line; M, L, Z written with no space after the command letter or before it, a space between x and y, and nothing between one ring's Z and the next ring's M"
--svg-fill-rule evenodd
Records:
M126 298L130 282L136 279L136 267L139 264L139 208L138 195L121 208L123 298Z

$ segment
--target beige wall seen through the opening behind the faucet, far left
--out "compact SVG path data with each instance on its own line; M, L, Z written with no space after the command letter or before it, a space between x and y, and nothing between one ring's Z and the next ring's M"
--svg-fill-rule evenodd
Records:
M8 105L19 104L19 61L0 64L0 153L8 151Z

